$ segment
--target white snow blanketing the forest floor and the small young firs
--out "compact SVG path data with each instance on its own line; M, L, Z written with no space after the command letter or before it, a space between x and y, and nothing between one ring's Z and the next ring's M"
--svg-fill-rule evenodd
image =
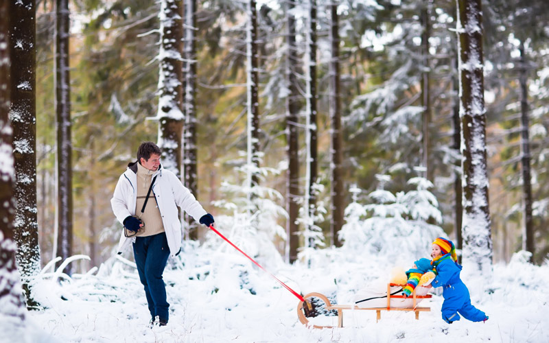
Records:
M424 221L425 213L434 213L438 205L428 191L430 182L414 178L409 184L417 189L371 193L373 204L359 204L355 197L345 211L342 248L307 249L293 265L284 263L272 244L274 233L284 230L272 227L277 209L266 204L270 191L258 192L257 222L262 225L255 228L242 206L244 187L225 184L236 194L228 198L239 201L233 216L215 218L216 228L267 272L212 231L202 246L185 241L163 275L170 322L151 329L135 263L117 255L100 268L69 277L62 273L65 265L89 257L75 255L57 270L51 269L51 261L32 281L35 298L45 309L26 312L23 329L0 315L0 342L547 342L549 259L532 265L524 251L508 265L495 264L489 279L465 276L464 267L471 302L490 317L485 323L444 322L440 290L431 290L433 297L423 300L421 306L431 311L419 320L409 312L383 311L376 322L373 311L346 311L343 328L314 329L299 322L298 297L270 273L303 295L320 292L333 303L351 304L361 292L385 285L391 270L407 270L417 258L428 257L432 240L444 235L439 226ZM280 195L271 191L271 196ZM382 211L395 204L404 212ZM327 316L309 321L337 322Z

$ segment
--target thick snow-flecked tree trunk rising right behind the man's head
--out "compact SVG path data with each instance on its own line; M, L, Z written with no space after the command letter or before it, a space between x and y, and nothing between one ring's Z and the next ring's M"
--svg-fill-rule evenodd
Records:
M183 44L182 0L162 0L160 9L160 74L159 74L159 142L162 166L180 177L181 133L181 73Z

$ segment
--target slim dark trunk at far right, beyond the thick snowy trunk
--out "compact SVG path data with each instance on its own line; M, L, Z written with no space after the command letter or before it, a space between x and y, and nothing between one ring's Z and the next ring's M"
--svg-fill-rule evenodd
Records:
M522 250L532 253L530 262L534 259L534 227L532 221L532 184L530 183L530 137L528 129L528 88L526 82L528 74L526 69L526 56L524 53L524 42L520 42L520 112L521 112L521 137L522 137L522 202L524 206L524 226L522 227Z

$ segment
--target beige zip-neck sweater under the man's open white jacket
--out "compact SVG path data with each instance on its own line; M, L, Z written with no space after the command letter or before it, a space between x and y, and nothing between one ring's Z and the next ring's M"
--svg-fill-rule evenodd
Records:
M143 203L145 202L145 198L147 198L147 191L150 187L152 174L154 174L154 171L137 163L137 202L135 203L135 215L138 217L141 215ZM137 236L139 237L152 236L164 232L162 217L160 215L159 206L156 204L153 191L150 192L145 212L141 215L141 221L145 225L141 230L137 231Z

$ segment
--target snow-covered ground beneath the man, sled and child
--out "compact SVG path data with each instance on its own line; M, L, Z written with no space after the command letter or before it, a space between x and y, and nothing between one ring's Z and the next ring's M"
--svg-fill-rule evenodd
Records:
M164 274L171 304L166 327L148 327L137 272L113 260L62 285L45 277L37 289L47 309L28 314L24 338L8 333L0 341L549 342L549 265L523 260L517 254L509 265L495 265L493 280L464 280L473 304L490 316L486 323L462 319L446 324L440 316L443 298L434 294L421 303L432 311L421 313L419 320L410 312L384 311L376 323L375 311L355 311L346 313L342 329L312 329L297 318L299 300L232 248L187 247ZM337 303L349 304L374 279L388 279L395 263L407 268L413 259L328 249L318 253L312 268L264 263L297 292L335 292ZM0 327L9 325L0 322Z

